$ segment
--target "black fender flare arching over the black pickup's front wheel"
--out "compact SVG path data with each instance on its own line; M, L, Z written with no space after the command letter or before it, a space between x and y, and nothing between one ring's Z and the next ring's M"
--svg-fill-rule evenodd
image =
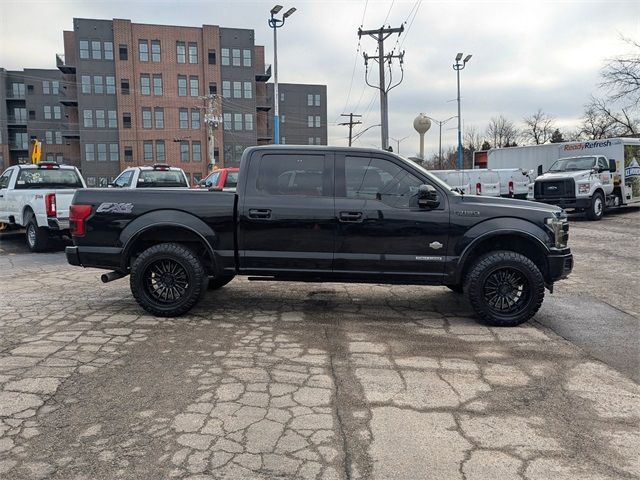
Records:
M549 246L546 243L546 241L548 241L549 239L549 236L539 226L521 218L510 217L508 219L509 226L507 227L506 225L500 225L500 223L502 223L501 220L504 219L498 218L487 220L486 222L474 225L472 228L465 232L463 237L456 245L456 253L458 253L458 251L460 252L459 261L454 273L456 283L462 281L462 272L464 271L464 268L467 265L467 261L475 248L482 242L490 238L515 235L526 238L527 240L532 240L538 247L539 252L543 253L545 257L551 253L549 250Z

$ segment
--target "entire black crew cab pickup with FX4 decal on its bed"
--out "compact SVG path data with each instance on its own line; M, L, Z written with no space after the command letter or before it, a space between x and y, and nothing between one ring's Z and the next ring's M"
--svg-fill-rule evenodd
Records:
M373 149L252 147L237 192L79 190L70 220L69 263L130 275L158 316L244 275L446 285L482 322L514 326L573 266L560 208L462 195Z

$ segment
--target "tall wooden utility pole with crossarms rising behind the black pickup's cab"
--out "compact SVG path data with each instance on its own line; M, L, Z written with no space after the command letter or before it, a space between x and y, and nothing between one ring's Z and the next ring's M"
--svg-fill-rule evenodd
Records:
M395 88L398 85L400 85L400 83L402 83L402 77L404 77L404 70L402 69L404 51L395 55L393 52L385 55L384 41L392 34L397 33L398 35L400 35L402 32L404 32L404 25L401 25L400 28L381 27L378 30L362 30L362 28L358 29L359 38L362 37L362 35L369 35L371 38L373 38L378 42L377 56L375 55L370 56L370 55L367 55L366 53L363 53L363 56L364 56L364 65L366 67L365 81L367 82L367 85L369 85L370 87L377 88L378 90L380 90L380 123L382 124L380 135L382 137L382 148L384 150L389 148L389 111L388 111L388 104L387 104L387 94L392 88ZM389 67L391 67L391 62L393 61L394 58L397 58L398 60L400 60L400 69L402 71L402 77L400 78L400 81L395 85L387 86L387 83L385 80L385 72L384 72L385 63L388 63ZM369 60L375 60L378 62L378 73L379 73L378 85L371 85L367 78L369 75L369 69L368 69Z

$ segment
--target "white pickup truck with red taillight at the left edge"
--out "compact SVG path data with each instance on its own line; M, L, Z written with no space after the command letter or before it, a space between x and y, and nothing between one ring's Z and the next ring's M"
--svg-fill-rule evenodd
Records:
M0 226L26 228L29 249L46 250L52 235L68 235L69 205L85 187L71 165L13 165L0 175Z

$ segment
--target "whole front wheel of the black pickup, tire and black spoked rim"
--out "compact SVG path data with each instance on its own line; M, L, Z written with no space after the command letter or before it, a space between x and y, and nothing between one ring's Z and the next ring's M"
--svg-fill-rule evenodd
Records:
M533 317L542 305L544 278L524 255L499 250L475 262L464 290L482 323L515 327Z

